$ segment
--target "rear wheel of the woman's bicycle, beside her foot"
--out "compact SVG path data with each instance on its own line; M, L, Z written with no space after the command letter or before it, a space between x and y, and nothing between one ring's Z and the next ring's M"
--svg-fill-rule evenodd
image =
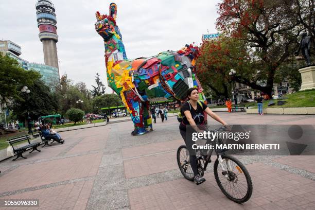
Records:
M185 179L189 181L195 180L194 172L189 162L189 151L185 145L181 145L177 149L177 164Z

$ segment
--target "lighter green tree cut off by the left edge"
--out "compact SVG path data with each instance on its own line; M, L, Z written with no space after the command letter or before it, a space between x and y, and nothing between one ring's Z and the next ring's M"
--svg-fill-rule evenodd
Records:
M30 86L40 78L35 71L26 71L15 59L0 53L0 102L6 103L9 98L21 99L18 86Z

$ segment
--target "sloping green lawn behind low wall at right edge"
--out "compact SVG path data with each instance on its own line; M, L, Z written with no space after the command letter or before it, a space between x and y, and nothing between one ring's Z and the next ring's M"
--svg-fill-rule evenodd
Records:
M286 99L270 99L263 101L263 108L315 107L315 90L299 91L284 95L283 97ZM270 101L274 101L275 105L268 107ZM277 101L286 101L286 103L277 106ZM257 104L255 104L255 107L257 107Z

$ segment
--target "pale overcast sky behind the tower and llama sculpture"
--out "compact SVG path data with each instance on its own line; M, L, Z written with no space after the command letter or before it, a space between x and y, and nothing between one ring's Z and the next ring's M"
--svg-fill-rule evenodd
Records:
M0 0L0 39L22 47L21 58L44 63L38 38L37 0ZM60 76L67 74L75 83L83 81L89 89L98 72L106 81L104 45L96 33L95 12L109 13L109 4L117 4L116 23L122 34L127 57L153 56L185 44L201 42L204 33L215 33L219 0L191 1L104 1L52 0L56 9ZM111 89L107 88L107 93Z

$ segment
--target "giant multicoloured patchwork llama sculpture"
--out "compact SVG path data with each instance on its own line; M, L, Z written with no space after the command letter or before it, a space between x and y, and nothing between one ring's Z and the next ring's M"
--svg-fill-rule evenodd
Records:
M149 58L127 59L116 25L117 6L110 4L109 15L96 12L95 30L103 38L108 85L121 97L134 124L132 135L152 130L150 101L174 97L184 101L188 88L196 87L205 101L196 76L198 47L186 45L178 51L167 50Z

